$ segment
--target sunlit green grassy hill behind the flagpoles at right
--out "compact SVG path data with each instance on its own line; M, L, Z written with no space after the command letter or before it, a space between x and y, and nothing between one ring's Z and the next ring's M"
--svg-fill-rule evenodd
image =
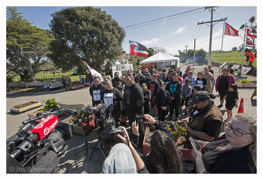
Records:
M214 62L218 62L220 63L220 50L219 51L212 51L211 52L211 59ZM253 54L255 52L252 52ZM222 59L221 59L221 64L223 64L224 62L227 63L234 63L234 64L241 64L242 63L242 55L243 52L238 52L238 51L232 51L232 52L226 52L226 51L222 51ZM207 53L208 56L208 53ZM247 65L246 63L246 56L244 56L244 60L243 60L243 64ZM254 67L257 67L257 58L254 59L253 61L253 65Z

